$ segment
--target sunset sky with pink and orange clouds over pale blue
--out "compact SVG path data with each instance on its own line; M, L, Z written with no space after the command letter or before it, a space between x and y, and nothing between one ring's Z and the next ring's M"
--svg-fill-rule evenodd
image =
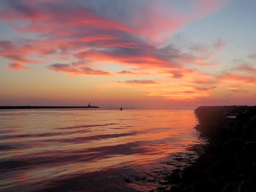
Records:
M0 0L0 105L256 105L255 0Z

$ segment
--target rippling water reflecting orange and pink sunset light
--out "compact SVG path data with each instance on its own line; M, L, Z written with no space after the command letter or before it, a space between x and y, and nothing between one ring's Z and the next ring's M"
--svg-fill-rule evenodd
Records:
M1 109L0 191L152 190L196 124L191 109Z

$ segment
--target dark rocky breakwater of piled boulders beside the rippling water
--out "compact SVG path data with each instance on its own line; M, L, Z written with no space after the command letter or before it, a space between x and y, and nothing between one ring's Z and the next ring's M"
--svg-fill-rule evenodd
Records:
M171 191L256 191L256 106L195 109L196 129L209 139L196 163L169 176Z

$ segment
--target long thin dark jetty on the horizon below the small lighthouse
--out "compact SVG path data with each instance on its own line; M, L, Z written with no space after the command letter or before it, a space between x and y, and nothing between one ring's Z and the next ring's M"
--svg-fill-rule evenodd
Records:
M0 106L0 109L100 108L97 106Z

